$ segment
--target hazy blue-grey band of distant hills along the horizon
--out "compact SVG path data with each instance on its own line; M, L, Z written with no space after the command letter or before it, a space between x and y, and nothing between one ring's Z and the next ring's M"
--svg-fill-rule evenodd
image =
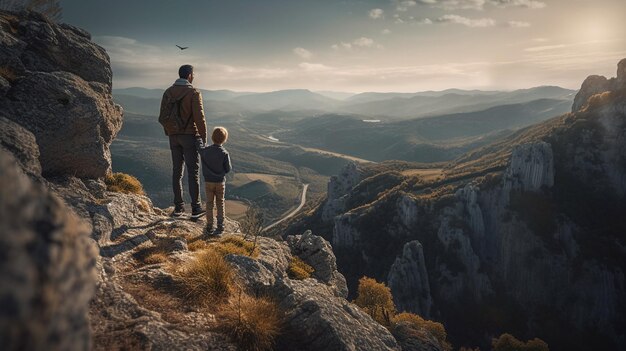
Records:
M385 121L473 112L498 105L525 103L538 99L573 101L574 90L542 86L510 92L447 89L415 93L361 94L306 89L267 93L231 90L201 90L205 109L216 116L250 116L261 112L288 111L308 114L358 114ZM113 95L126 110L138 114L158 111L162 89L114 89ZM152 99L152 100L139 100ZM310 112L310 113L309 113Z

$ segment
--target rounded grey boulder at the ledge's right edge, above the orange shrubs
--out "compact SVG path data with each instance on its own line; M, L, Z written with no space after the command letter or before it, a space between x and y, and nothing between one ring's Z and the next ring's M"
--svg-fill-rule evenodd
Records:
M328 284L336 296L348 297L346 278L337 271L337 260L328 241L307 230L302 235L288 236L287 244L294 255L315 269L313 277Z

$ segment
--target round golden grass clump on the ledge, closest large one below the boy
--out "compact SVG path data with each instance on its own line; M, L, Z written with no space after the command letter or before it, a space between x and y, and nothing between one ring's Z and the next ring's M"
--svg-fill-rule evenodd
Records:
M233 271L224 257L215 250L200 251L196 257L173 269L186 300L200 306L224 301L233 285Z

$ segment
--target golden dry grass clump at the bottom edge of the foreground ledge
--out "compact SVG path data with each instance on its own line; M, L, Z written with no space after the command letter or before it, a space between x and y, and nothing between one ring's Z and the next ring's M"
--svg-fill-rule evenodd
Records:
M243 292L222 306L217 319L218 329L248 351L271 350L282 324L282 314L275 302Z

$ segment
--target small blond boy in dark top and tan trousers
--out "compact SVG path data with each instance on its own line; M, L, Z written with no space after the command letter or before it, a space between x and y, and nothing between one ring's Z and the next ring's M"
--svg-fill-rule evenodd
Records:
M206 187L206 233L213 230L213 204L217 207L217 228L215 235L224 231L224 190L226 188L226 173L230 172L230 156L222 145L228 139L228 131L224 127L215 127L211 134L213 145L204 145L200 148L202 160L202 174Z

